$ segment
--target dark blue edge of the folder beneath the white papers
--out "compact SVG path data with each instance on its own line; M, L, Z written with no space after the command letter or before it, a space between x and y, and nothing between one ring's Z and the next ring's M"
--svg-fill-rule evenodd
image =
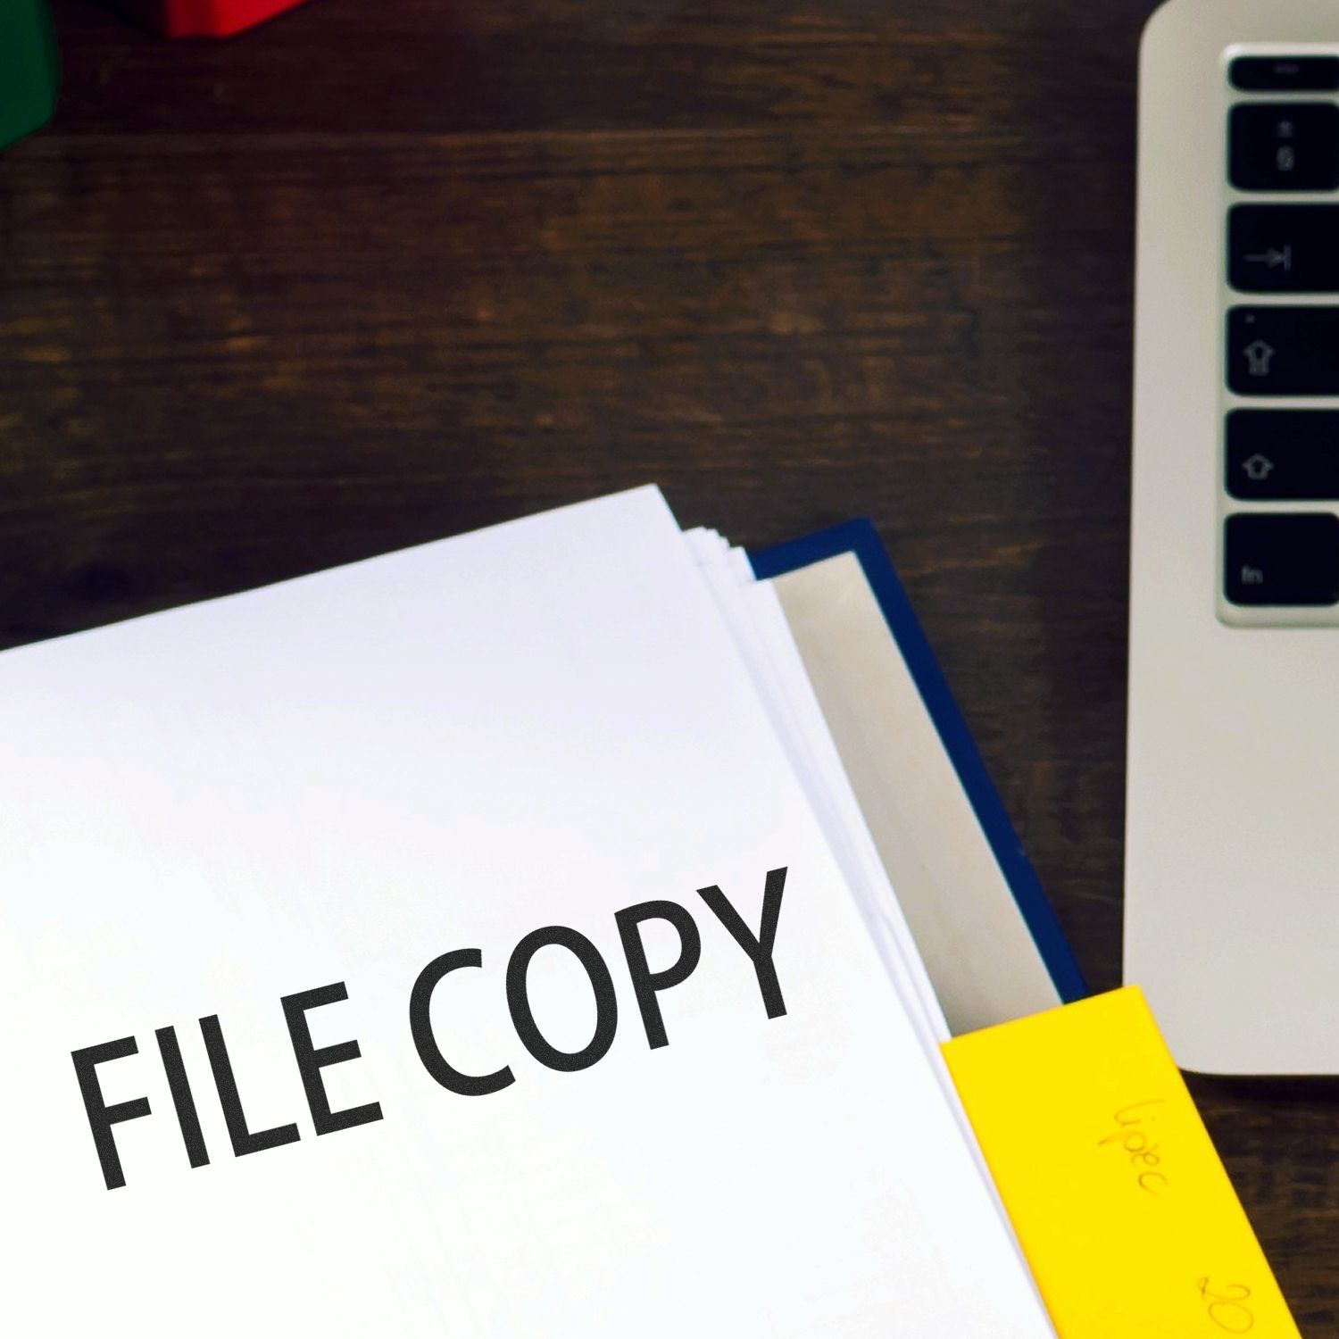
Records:
M921 631L920 621L907 599L901 581L893 570L892 560L873 524L866 520L844 521L826 530L778 544L769 549L749 553L754 574L766 581L770 577L799 568L811 566L838 553L854 553L865 572L874 599L884 611L888 629L893 635L907 668L920 691L921 700L929 711L931 720L939 731L957 779L967 791L976 821L986 833L995 860L999 862L1004 881L1014 893L1018 909L1032 935L1042 961L1051 973L1056 994L1069 1004L1089 995L1087 983L1074 959L1074 951L1055 919L1055 912L1042 890L1031 862L1023 853L1023 846L1014 832L999 793L991 782L976 751L972 735L957 710L953 694L939 668L935 652Z

